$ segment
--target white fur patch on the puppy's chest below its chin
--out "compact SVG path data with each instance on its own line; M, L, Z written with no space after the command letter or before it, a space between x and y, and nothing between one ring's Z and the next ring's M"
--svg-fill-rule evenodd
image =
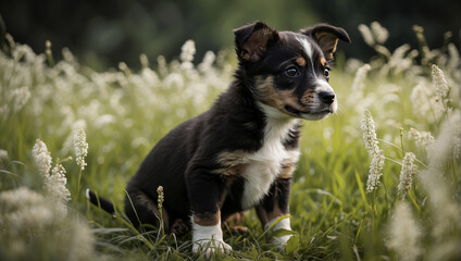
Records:
M253 207L267 194L272 183L281 173L282 163L285 160L299 156L297 150L287 151L283 146L283 140L299 120L271 117L270 114L273 111L270 112L270 110L273 108L261 107L266 112L267 123L264 129L263 147L248 156L248 164L242 170L241 175L246 179L241 199L244 209Z

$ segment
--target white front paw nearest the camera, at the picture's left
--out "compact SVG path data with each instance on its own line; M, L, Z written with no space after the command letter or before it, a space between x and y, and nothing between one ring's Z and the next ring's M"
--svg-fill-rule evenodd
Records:
M201 226L192 220L192 252L203 251L207 259L214 252L228 253L232 247L223 240L221 221L216 225Z

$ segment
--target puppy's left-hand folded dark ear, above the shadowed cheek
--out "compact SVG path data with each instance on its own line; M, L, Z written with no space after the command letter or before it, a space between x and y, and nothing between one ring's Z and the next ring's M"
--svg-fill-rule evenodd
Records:
M278 40L278 33L259 21L234 29L234 35L238 59L250 62L260 60L267 47Z

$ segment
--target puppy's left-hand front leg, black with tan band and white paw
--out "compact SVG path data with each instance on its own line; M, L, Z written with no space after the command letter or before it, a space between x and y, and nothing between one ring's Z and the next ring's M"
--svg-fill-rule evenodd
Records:
M196 171L187 176L187 189L192 208L192 252L227 252L232 247L224 243L221 229L220 196L225 186L220 176Z

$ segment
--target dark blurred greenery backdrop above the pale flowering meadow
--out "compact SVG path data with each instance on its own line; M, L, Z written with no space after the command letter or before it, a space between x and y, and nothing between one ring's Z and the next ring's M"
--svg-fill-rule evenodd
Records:
M353 45L341 45L347 57L369 59L374 51L358 30L359 24L379 22L389 30L386 46L396 47L418 40L413 25L425 29L431 48L444 44L444 34L460 47L461 1L459 0L1 0L0 14L14 39L35 52L45 41L60 59L68 47L79 62L97 71L124 61L139 67L139 54L151 61L167 60L180 53L180 46L194 39L197 59L207 50L232 48L233 28L261 20L281 30L298 30L326 22L344 27Z

